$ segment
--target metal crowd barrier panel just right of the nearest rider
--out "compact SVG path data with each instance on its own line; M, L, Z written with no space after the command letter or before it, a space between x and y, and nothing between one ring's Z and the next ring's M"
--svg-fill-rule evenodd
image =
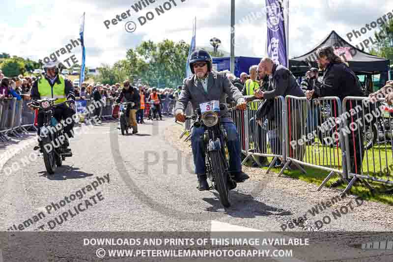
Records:
M268 103L267 109L269 113L263 116L260 120L256 121L256 111L261 103ZM238 113L241 113L238 111ZM236 121L239 122L239 128L243 123L243 128L238 132L244 133L245 151L247 157L243 160L242 164L252 157L253 160L261 166L260 157L273 157L267 173L275 165L276 161L280 158L285 161L285 129L284 117L286 108L284 98L277 96L274 100L254 100L249 103L249 108L244 112L244 120L239 114L236 116ZM243 145L242 145L243 146Z

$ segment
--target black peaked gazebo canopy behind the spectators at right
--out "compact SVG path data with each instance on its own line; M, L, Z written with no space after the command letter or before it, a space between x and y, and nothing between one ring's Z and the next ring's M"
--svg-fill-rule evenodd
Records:
M289 59L289 69L295 76L304 76L310 67L317 67L316 51L321 46L331 46L335 53L349 63L356 74L381 74L389 71L389 59L365 53L340 37L334 30L307 54Z

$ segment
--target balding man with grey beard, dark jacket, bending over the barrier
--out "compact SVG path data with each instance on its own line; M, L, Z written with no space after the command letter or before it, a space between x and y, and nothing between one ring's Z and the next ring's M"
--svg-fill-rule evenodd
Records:
M274 99L276 96L293 95L298 97L304 97L305 93L302 88L300 88L299 84L296 82L295 77L292 72L289 71L283 65L279 65L273 62L271 58L262 58L259 63L258 70L263 71L265 74L269 75L269 87L268 91L262 91L261 89L257 90L254 95L257 98L264 99ZM291 107L290 110L290 118L294 119L292 123L291 130L291 139L298 141L302 137L302 128L306 123L306 107ZM281 130L281 123L278 123L279 129ZM280 141L282 141L281 132L279 132ZM304 146L303 145L294 145L289 146L289 155L292 158L302 161L304 155ZM292 169L297 169L295 165L291 165Z

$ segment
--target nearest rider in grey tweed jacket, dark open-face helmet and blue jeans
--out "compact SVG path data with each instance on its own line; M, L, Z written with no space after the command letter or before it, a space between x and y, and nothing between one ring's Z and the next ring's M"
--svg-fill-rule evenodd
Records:
M212 58L208 52L204 50L194 51L190 56L189 66L194 75L183 80L183 88L175 106L175 118L178 121L186 121L184 111L188 102L191 102L193 111L195 111L200 108L200 104L212 100L225 104L225 98L228 95L231 100L237 103L239 109L245 110L247 108L242 93L232 85L226 74L212 70ZM233 124L229 112L223 115L220 121L228 134L228 173L233 175L237 182L243 182L249 176L242 172L240 137L236 126ZM206 180L205 157L202 152L204 142L201 136L204 132L204 127L193 127L191 135L195 173L198 177L198 189L201 191L209 190L209 184ZM234 184L231 183L231 179L228 182L230 182L229 189L233 189Z

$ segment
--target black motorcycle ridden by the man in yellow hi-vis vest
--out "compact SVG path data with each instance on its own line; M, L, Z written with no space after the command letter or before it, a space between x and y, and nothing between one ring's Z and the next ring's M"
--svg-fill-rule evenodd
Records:
M59 105L71 102L67 100L62 103L54 104L57 98L45 98L41 100L33 100L27 105L30 108L38 109L43 113L44 124L40 130L40 143L41 151L44 156L44 164L49 174L54 174L56 167L62 165L62 161L66 157L71 157L72 152L65 152L61 144L65 140L63 133L63 126L58 125L56 118L54 117L55 108ZM61 128L56 128L60 127ZM55 146L57 145L57 146Z

